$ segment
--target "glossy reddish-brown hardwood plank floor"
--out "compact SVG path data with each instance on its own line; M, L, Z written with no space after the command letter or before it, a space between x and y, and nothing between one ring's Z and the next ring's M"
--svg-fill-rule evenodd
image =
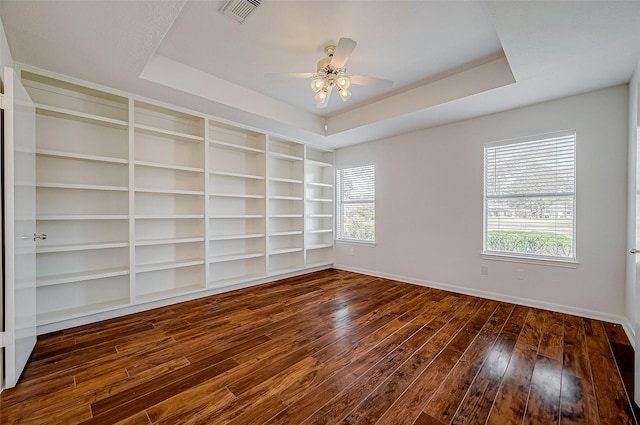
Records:
M327 270L42 336L0 423L633 424L624 346L597 320Z

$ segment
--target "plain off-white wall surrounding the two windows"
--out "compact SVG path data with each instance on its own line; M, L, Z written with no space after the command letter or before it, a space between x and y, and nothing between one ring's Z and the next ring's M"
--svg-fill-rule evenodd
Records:
M627 99L618 86L338 150L338 168L376 164L377 243L338 243L336 267L623 321ZM567 129L579 265L483 260L483 144Z

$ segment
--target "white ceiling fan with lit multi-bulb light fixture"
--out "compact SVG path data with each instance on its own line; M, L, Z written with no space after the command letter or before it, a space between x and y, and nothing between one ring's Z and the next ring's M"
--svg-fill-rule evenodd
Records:
M350 38L341 38L338 45L330 44L324 48L326 57L318 61L316 72L293 72L266 74L267 78L313 78L311 89L315 92L318 108L324 108L329 103L333 87L337 87L338 94L343 101L349 100L351 84L370 87L391 87L393 81L364 75L348 75L346 64L357 43Z

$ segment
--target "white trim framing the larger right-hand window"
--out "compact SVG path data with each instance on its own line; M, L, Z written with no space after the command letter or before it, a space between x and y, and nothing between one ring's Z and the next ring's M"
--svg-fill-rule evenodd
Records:
M528 255L524 253L509 253L502 251L491 251L487 250L487 181L486 181L486 163L484 158L484 152L487 147L508 145L512 143L519 142L530 142L535 140L540 140L548 137L562 137L573 135L575 137L575 145L574 149L577 149L577 131L575 129L572 130L564 130L564 131L555 131L551 133L541 133L533 136L525 136L514 139L506 139L500 140L496 142L488 142L483 146L483 170L482 170L482 179L483 179L483 193L482 193L482 252L481 256L485 260L495 260L495 261L508 261L515 263L526 263L526 264L537 264L544 266L556 266L556 267L565 267L565 268L577 268L578 262L578 234L577 234L577 193L578 193L578 157L577 152L575 152L574 159L574 209L573 209L573 258L563 258L563 257L552 257L552 256L538 256L538 255Z

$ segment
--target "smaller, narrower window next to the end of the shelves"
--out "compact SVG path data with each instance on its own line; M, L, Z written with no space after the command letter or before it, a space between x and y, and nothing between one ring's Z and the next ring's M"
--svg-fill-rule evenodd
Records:
M375 166L338 170L336 185L338 239L375 242Z

